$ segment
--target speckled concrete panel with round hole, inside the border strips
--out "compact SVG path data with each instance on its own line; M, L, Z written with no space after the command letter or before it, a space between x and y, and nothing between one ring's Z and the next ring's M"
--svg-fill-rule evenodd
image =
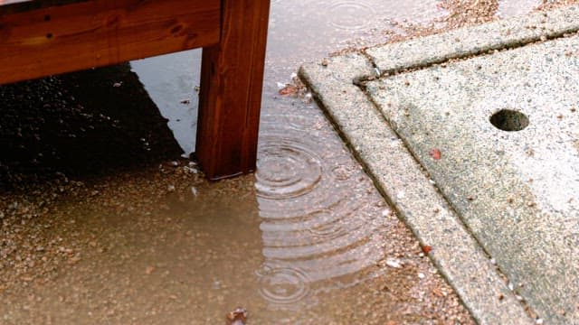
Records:
M547 320L579 321L579 37L401 74L368 91L516 292ZM501 111L499 127L530 123L501 130L491 123Z

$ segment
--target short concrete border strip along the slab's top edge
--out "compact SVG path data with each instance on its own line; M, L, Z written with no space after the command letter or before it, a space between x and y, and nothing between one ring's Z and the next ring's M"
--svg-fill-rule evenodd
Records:
M484 53L557 38L579 31L579 5L528 14L422 38L370 48L365 53L384 74L416 69Z

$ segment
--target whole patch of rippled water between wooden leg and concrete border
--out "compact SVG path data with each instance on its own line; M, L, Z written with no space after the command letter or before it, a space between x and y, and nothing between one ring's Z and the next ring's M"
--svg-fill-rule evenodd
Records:
M258 276L273 308L291 308L384 254L380 214L368 202L372 184L361 181L363 172L323 123L321 114L261 118L255 188L262 255L275 267Z

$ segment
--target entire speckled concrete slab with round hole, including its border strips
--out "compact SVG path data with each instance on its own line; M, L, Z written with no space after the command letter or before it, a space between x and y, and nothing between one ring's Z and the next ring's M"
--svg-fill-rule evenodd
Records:
M579 41L523 46L579 30L578 13L572 6L300 69L479 323L533 322L525 309L579 323ZM442 48L457 38L460 46ZM448 61L498 49L509 50ZM375 79L375 68L413 72L365 83L367 97L354 83Z

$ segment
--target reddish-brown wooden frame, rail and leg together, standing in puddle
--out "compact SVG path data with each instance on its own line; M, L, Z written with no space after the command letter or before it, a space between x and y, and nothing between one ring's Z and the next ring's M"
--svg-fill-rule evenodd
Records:
M197 159L212 180L252 172L269 10L270 0L0 5L0 85L202 47Z

